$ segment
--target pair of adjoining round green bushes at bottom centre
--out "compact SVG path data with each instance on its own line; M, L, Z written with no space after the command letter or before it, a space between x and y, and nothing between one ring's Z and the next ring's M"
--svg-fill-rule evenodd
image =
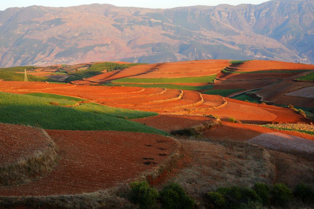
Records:
M177 183L168 183L160 192L150 187L147 181L131 182L130 188L128 198L139 208L153 208L156 205L166 209L194 208L194 200Z

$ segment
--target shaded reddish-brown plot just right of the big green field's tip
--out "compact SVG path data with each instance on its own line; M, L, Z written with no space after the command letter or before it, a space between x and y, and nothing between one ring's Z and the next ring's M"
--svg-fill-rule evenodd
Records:
M211 119L200 115L157 115L154 117L134 119L132 121L169 132L199 125L211 121Z

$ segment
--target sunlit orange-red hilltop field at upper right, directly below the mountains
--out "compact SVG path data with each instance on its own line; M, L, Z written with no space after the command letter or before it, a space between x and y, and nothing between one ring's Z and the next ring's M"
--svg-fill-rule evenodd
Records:
M314 69L314 65L304 65L300 63L279 62L269 60L252 60L243 64L233 64L230 67L236 67L243 71L257 71L257 70L302 70Z

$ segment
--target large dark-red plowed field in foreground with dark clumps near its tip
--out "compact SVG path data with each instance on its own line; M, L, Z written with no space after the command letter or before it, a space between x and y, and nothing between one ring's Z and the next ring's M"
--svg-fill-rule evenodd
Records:
M62 130L47 133L61 154L57 167L39 180L1 188L1 196L65 195L106 189L154 169L178 148L171 137L153 134Z

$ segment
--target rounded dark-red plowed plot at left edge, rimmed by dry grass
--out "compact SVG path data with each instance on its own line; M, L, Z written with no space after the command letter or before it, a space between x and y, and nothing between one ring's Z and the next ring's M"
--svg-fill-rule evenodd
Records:
M38 128L0 123L0 164L33 155L47 146L47 139Z

